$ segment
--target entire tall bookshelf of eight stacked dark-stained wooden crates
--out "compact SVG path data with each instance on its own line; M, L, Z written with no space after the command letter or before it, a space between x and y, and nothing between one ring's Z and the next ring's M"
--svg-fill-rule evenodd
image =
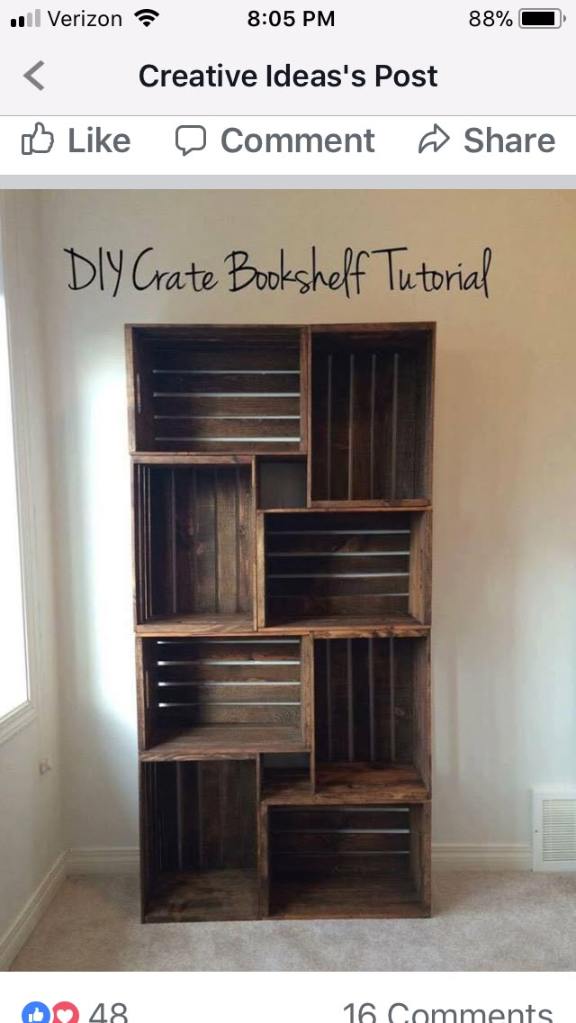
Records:
M127 327L144 921L430 915L434 344Z

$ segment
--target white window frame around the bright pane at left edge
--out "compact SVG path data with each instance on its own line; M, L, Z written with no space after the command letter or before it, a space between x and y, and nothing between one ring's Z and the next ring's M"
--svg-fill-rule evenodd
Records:
M19 273L14 274L12 281L11 267L5 258L5 232L4 232L4 201L0 198L0 278L4 284L5 316L6 316L6 341L8 346L8 371L11 395L11 417L12 437L14 449L14 473L16 486L16 505L18 521L18 542L20 552L20 575L21 575L21 602L24 616L24 638L25 638L25 663L27 698L13 710L8 711L0 718L0 746L12 739L13 736L28 727L37 717L39 712L40 677L36 664L34 650L38 650L38 644L34 642L39 636L40 609L35 597L35 588L32 581L35 578L35 566L37 565L37 550L34 530L34 504L31 500L31 473L30 473L30 402L27 387L27 362L29 353L26 345L16 346L12 344L11 302L17 301L20 292ZM15 286L12 287L12 284Z

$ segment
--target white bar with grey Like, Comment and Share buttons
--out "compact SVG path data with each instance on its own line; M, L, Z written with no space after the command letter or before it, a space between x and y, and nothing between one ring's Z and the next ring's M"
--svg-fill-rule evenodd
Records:
M3 117L5 175L568 175L572 117Z

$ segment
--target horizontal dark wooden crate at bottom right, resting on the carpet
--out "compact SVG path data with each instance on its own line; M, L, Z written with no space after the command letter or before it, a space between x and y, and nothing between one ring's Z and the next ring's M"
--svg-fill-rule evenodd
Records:
M270 916L427 916L427 817L426 804L270 807Z

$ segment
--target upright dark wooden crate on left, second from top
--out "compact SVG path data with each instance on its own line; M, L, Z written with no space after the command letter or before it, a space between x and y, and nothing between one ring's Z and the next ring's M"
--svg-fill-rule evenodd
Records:
M170 631L251 630L254 543L248 464L134 465L136 621Z

